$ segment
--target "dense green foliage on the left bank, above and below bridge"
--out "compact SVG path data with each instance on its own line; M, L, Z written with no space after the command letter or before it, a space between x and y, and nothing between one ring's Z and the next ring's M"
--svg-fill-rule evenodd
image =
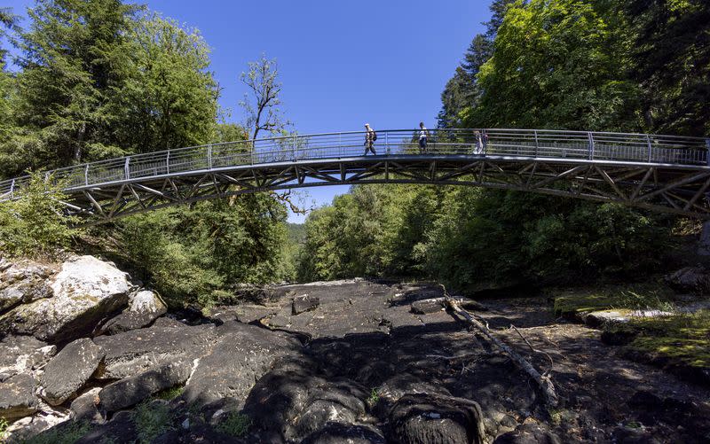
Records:
M0 64L0 180L249 133L221 122L209 47L196 29L122 0L37 0L27 29L0 12L0 36L17 46L16 70ZM43 187L33 179L27 197L2 206L4 253L67 244L59 195ZM239 283L293 275L282 261L285 219L272 195L238 196L132 216L91 234L118 239L124 259L166 300L205 304Z

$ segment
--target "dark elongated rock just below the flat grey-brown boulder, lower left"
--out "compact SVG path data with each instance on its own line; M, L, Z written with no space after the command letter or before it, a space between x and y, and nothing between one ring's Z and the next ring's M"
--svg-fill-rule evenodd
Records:
M99 408L113 412L138 404L153 393L185 384L192 370L192 362L179 360L116 381L99 392Z

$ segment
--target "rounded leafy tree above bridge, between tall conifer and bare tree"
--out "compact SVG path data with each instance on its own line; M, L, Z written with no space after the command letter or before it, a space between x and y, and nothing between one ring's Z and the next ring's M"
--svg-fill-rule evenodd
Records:
M130 152L206 144L215 136L217 82L197 29L148 12L131 27L128 76L111 113Z

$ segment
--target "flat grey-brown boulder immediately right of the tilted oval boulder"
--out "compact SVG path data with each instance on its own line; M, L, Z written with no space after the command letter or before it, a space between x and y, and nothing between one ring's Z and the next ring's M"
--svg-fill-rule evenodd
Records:
M215 330L211 324L191 327L176 323L175 326L154 325L146 329L99 336L94 338L94 342L101 347L104 361L95 377L129 378L158 365L180 359L200 358L214 343Z

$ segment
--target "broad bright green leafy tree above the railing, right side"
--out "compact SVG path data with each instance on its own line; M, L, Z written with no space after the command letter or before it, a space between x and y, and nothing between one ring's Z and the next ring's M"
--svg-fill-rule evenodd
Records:
M607 2L518 1L478 74L469 127L638 129L628 27Z

